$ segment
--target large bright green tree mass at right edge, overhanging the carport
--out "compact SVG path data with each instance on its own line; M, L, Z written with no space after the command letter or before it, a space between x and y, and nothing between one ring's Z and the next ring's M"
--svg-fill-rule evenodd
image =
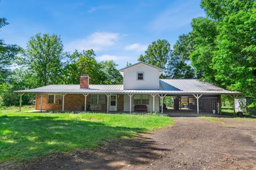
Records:
M193 19L189 33L189 59L197 76L244 92L255 108L256 1L202 0L201 7L207 17Z

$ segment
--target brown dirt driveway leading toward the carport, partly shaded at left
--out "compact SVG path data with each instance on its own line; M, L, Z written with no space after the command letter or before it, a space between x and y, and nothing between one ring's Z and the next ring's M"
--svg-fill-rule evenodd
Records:
M174 120L173 126L134 140L53 155L19 169L256 169L256 122Z

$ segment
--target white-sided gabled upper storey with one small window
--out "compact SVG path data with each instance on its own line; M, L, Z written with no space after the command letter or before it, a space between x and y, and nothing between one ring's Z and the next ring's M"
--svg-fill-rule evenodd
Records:
M119 70L124 77L124 90L159 89L159 76L163 69L145 62L138 62Z

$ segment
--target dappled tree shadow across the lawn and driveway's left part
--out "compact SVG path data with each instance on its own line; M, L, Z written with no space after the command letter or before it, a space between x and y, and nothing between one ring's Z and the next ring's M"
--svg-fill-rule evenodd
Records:
M14 167L13 163L22 161L25 164L20 169L115 169L123 166L123 161L147 163L147 158L158 157L155 151L159 150L150 139L137 136L137 140L122 139L103 144L142 131L145 129L113 127L91 120L1 116L0 162L12 164L2 163L0 169ZM99 145L97 150L87 150ZM80 151L61 153L74 150Z

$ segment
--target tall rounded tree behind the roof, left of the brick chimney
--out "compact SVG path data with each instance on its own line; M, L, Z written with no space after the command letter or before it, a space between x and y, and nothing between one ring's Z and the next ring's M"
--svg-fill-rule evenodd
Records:
M63 44L60 36L36 34L27 44L25 62L35 74L37 86L60 84Z

